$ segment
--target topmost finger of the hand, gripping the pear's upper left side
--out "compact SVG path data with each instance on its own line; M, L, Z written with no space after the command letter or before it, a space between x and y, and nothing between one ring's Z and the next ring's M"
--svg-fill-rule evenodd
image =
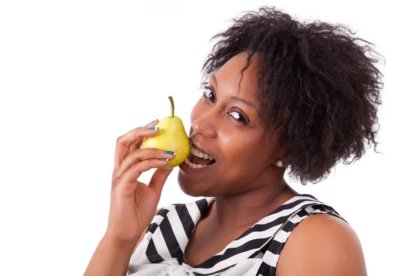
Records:
M116 170L121 165L122 161L124 161L125 157L128 156L131 147L134 149L139 148L144 137L154 137L158 134L159 130L157 128L155 130L148 129L148 127L155 126L157 123L158 121L155 120L144 127L130 130L117 139L114 170Z

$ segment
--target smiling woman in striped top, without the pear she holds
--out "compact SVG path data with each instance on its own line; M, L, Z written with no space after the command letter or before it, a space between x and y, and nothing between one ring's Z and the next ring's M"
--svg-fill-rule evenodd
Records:
M156 210L174 153L140 149L157 120L122 135L108 228L85 275L366 275L351 226L284 172L320 181L362 157L365 141L377 145L382 75L370 44L273 8L215 38L178 176L184 193L207 199ZM148 186L137 181L150 168Z

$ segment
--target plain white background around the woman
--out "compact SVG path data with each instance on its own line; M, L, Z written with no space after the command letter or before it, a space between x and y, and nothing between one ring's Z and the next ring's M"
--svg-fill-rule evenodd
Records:
M382 154L368 150L315 186L290 184L353 226L368 275L414 275L408 4L259 2L0 2L0 275L82 275L106 228L115 140L167 116L169 95L188 130L210 37L262 4L345 23L386 58ZM176 177L159 206L195 200Z

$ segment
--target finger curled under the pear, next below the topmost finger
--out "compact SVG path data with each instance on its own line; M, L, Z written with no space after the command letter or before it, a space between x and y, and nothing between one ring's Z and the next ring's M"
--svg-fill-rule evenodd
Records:
M122 161L121 165L115 170L113 177L120 178L134 164L147 159L174 159L175 152L168 152L158 148L143 148L130 152L130 154Z

